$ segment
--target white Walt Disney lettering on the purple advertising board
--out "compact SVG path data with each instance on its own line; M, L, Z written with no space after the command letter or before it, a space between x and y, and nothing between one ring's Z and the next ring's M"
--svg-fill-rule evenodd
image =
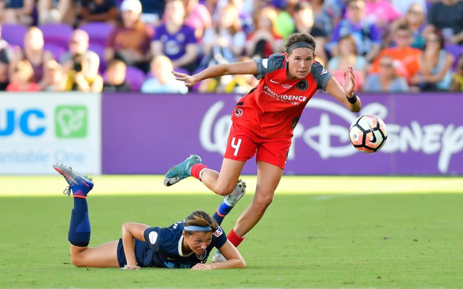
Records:
M200 127L201 146L208 152L223 154L226 148L228 132L231 127L229 110L224 111L225 102L213 103L205 113ZM294 129L293 144L288 154L288 160L294 160L300 148L302 139L313 149L320 158L342 158L357 153L349 140L350 123L359 115L376 115L387 119L388 108L373 102L364 105L359 114L354 114L343 105L326 100L312 99L305 110L320 110L318 123L311 127L304 127L299 122ZM313 117L313 116L306 116ZM302 116L304 119L305 116ZM345 121L343 123L342 121ZM379 153L406 153L408 151L421 152L425 155L438 154L437 169L447 173L452 156L463 151L463 125L441 123L421 125L418 120L410 123L386 122L387 142ZM335 140L335 141L333 141Z

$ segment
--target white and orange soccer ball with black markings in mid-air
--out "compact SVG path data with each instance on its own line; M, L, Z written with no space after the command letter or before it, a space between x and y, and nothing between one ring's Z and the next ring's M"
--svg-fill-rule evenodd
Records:
M358 151L374 153L386 143L386 124L377 116L362 115L350 125L349 138Z

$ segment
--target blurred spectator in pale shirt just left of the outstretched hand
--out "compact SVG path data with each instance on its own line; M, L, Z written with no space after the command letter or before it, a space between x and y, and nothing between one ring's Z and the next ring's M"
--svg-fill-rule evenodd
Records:
M176 80L172 74L173 65L169 58L156 56L151 61L151 74L141 86L142 93L181 93L186 94L188 87L182 81Z

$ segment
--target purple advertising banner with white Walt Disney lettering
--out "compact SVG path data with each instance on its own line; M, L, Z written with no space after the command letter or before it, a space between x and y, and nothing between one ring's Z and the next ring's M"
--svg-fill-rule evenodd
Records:
M236 95L103 95L102 172L164 174L190 154L220 170ZM361 94L362 111L349 112L318 93L294 131L285 174L463 175L463 96ZM348 138L360 115L382 118L381 151L357 152ZM255 160L243 174L256 174Z

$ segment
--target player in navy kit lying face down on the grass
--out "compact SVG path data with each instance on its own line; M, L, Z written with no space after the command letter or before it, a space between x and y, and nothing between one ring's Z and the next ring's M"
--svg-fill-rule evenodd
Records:
M150 227L140 223L124 223L119 241L89 248L90 219L87 194L94 184L66 166L54 165L68 183L65 194L74 198L68 240L72 263L78 267L140 267L191 268L193 270L245 268L246 263L236 247L227 240L218 222L204 211L194 211L185 220L168 228ZM244 188L243 188L244 190ZM221 222L221 220L219 220ZM215 247L228 259L224 263L206 264Z

